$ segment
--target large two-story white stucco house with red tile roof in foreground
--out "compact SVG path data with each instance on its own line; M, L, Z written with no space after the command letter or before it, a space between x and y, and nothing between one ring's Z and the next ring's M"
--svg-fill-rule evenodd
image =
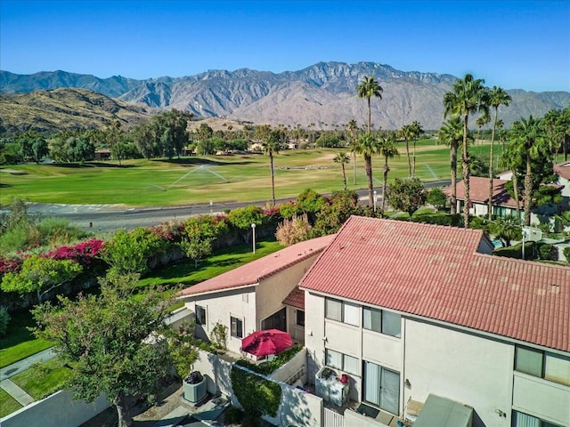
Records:
M481 230L351 217L299 284L309 378L333 368L394 415L431 395L474 426L570 427L570 268L492 251Z

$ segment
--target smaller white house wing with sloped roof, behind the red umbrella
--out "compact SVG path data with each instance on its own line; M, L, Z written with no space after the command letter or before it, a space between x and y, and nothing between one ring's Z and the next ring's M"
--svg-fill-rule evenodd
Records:
M228 350L254 331L280 329L305 338L304 294L297 285L333 236L289 246L274 254L184 289L179 298L195 313L196 334L209 339L216 324L228 328Z

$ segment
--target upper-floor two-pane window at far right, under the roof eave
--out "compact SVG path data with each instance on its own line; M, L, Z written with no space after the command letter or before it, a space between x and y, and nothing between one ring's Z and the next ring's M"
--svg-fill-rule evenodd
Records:
M515 370L570 385L570 358L567 356L517 346Z

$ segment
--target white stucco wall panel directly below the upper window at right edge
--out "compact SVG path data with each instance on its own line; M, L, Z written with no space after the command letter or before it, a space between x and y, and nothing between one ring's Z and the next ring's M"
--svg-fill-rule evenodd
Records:
M515 373L513 408L544 421L570 427L570 386Z

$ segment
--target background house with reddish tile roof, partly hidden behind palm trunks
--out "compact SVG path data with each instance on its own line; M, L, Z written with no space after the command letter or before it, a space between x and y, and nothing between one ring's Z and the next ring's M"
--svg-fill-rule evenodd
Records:
M513 197L510 197L509 191L505 188L508 180L493 180L493 215L499 217L517 216L517 204ZM562 185L557 186L563 190ZM462 212L465 203L465 189L463 181L457 183L457 212ZM451 197L451 188L445 189L445 194ZM486 216L489 212L489 179L479 176L471 176L469 178L469 198L471 206L469 214L474 216ZM524 200L523 195L519 196L519 206L521 219L524 219ZM543 205L531 212L531 223L548 222L549 217L558 214L558 205Z

